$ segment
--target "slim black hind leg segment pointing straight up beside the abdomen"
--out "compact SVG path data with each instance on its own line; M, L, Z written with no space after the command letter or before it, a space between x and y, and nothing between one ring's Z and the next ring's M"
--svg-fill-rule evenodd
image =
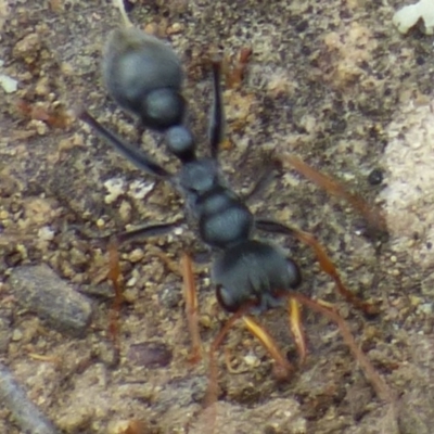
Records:
M213 91L214 101L209 118L210 155L217 159L220 143L225 136L225 110L221 97L221 62L213 60Z

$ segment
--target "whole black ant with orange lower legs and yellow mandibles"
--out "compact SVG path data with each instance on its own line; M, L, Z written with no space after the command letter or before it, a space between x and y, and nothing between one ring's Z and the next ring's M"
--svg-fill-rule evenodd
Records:
M181 164L177 174L170 174L145 152L119 139L86 110L81 110L78 117L136 167L176 188L184 199L186 216L194 218L201 241L215 253L212 281L216 289L217 301L225 310L233 315L212 344L209 350L212 379L216 375L214 354L239 318L244 319L250 331L272 355L277 371L280 370L283 376L289 375L293 370L292 365L280 353L268 332L248 315L261 314L280 306L282 301L288 298L291 331L301 360L303 361L306 356L306 346L298 303L320 311L337 323L345 342L379 396L387 399L391 396L387 385L356 345L345 321L330 305L314 301L297 292L296 289L302 282L297 264L286 257L279 247L255 238L256 231L266 231L293 235L307 243L314 250L321 268L332 277L339 292L348 302L368 315L378 312L376 306L359 299L345 288L336 268L312 235L275 220L255 218L251 213L246 201L269 181L275 167L266 170L244 196L238 195L225 181L218 163L225 127L220 85L221 64L218 60L212 60L210 64L214 93L209 120L210 156L197 157L194 137L183 122L187 104L181 95L182 67L171 48L133 27L114 30L105 47L103 78L108 93L123 108L139 116L144 128L164 133L168 151ZM163 234L183 222L184 219L119 233L112 238L112 246L137 237ZM112 258L114 259L110 276L116 293L120 294L117 286L119 276L117 257L113 255ZM186 310L193 340L193 358L196 359L200 354L195 317L197 307L191 259L188 255L184 255L182 260L182 272L187 288ZM210 386L210 393L215 394L215 384Z

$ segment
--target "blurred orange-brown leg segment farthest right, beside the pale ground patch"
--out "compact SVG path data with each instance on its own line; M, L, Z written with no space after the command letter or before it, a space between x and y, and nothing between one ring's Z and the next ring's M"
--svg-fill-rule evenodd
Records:
M324 174L320 174L294 155L281 155L280 159L289 163L292 167L295 168L295 170L297 170L311 182L316 183L318 187L324 189L329 194L346 200L354 209L359 212L367 219L372 228L375 228L380 232L387 232L384 216L379 208L372 205L368 205L358 195L352 194L346 191L334 179L328 177Z

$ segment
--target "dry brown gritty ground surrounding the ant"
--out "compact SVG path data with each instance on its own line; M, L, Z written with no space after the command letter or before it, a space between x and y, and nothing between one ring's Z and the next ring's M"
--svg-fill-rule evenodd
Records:
M387 239L367 237L348 203L290 167L253 205L258 215L312 232L348 288L381 302L381 314L366 319L334 294L308 247L270 237L299 263L301 291L334 303L345 317L396 392L395 408L375 396L336 328L305 311L309 356L291 381L277 383L271 358L239 324L225 345L238 373L228 371L220 352L219 403L204 411L206 357L188 361L181 279L161 259L203 251L194 233L183 228L122 246L118 366L107 334L106 252L85 235L182 215L168 186L143 177L69 117L73 107L86 105L137 142L135 120L107 97L100 76L101 48L122 25L119 13L108 1L0 1L0 73L17 80L15 91L0 89L0 358L59 432L432 432L434 49L433 37L418 29L397 33L392 16L401 5L158 0L137 1L129 14L182 59L191 125L204 153L210 102L205 55L221 47L233 60L252 48L242 86L225 93L221 162L235 190L254 181L265 155L295 154L382 207L390 231ZM142 145L176 169L157 135L146 132ZM208 256L196 267L205 348L227 318L210 286ZM22 268L27 265L53 273ZM87 294L78 312L62 310L81 316L72 330L40 318L42 307L29 302L35 282L49 294L42 306L56 288L65 306L73 303L68 292ZM293 357L285 311L270 311L263 321ZM25 432L15 410L0 407L0 432Z

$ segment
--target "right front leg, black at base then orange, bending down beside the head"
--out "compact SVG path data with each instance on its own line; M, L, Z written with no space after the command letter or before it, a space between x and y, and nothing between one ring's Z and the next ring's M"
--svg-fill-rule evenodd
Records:
M333 265L332 260L329 258L328 254L326 253L321 244L318 243L314 235L299 229L291 228L278 221L268 219L257 219L255 225L256 228L259 230L271 233L273 232L292 235L307 244L314 250L321 269L334 280L337 291L348 303L352 303L355 307L362 310L366 315L372 316L379 314L379 306L360 299L344 285L341 277L337 273L336 267Z

